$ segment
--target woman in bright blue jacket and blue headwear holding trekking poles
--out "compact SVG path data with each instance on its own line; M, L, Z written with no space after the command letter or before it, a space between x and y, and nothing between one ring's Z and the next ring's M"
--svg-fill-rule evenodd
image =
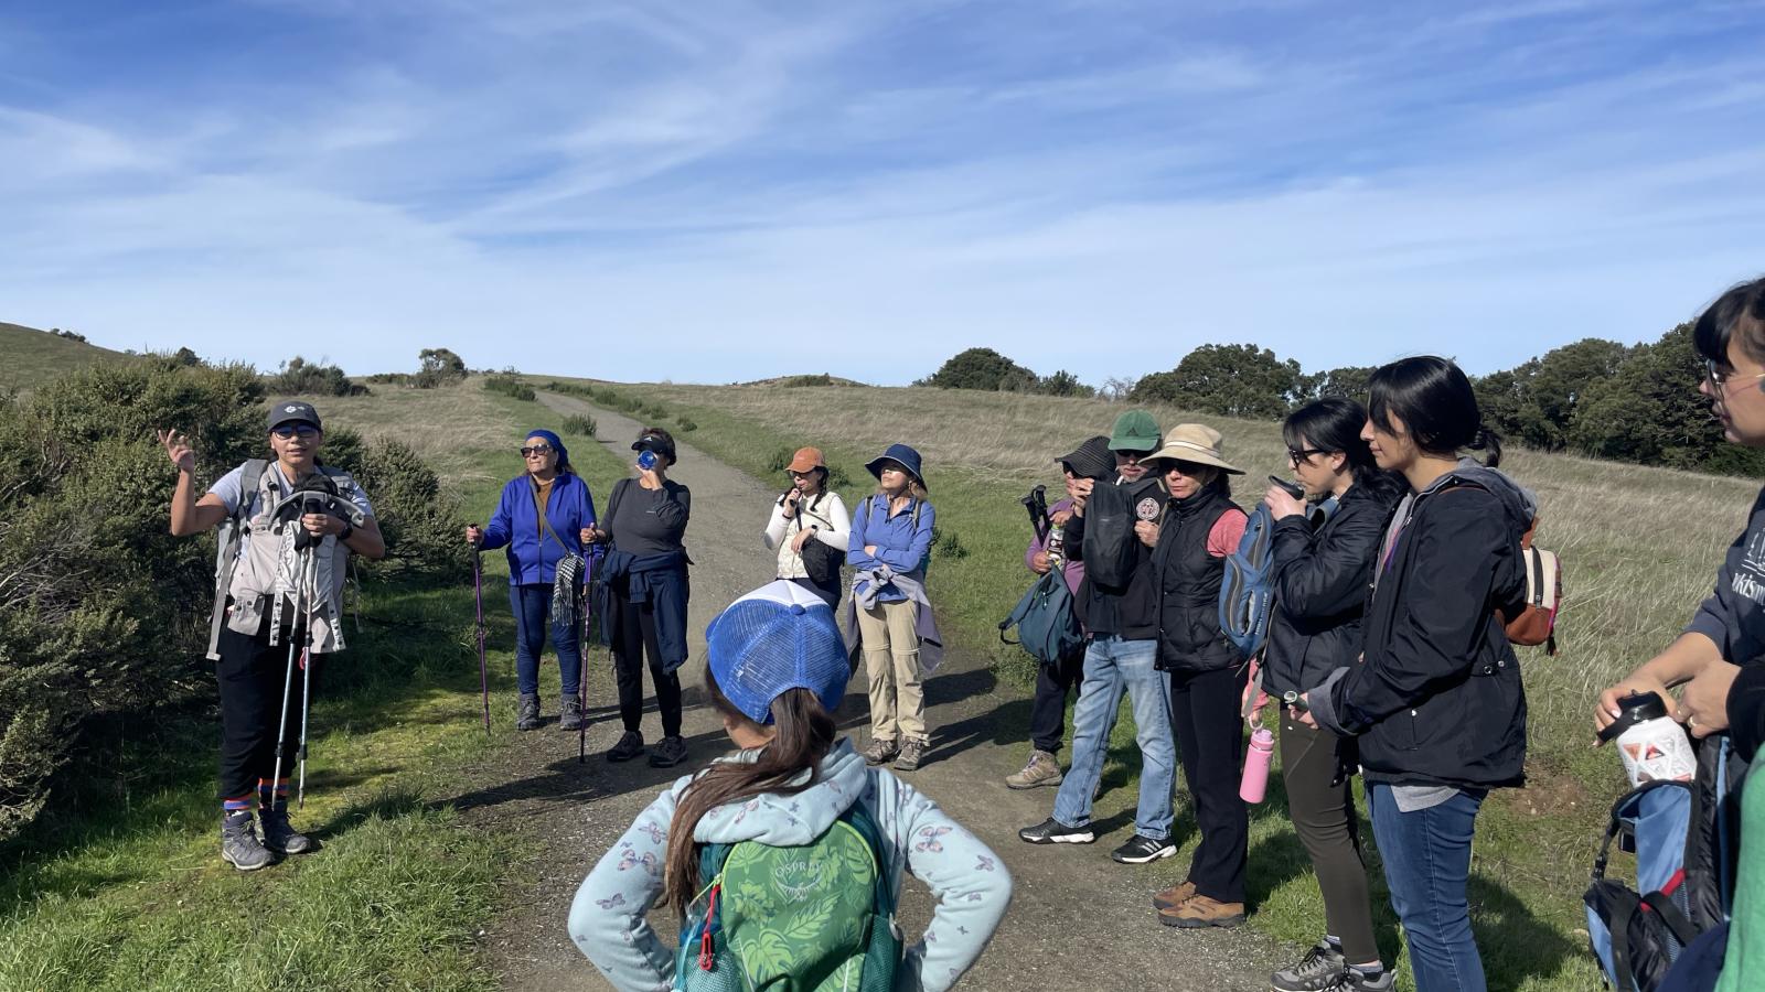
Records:
M468 524L475 586L484 570L477 552L507 547L508 605L515 614L515 729L538 729L540 653L547 630L558 653L558 729L582 727L582 588L584 549L591 547L595 494L570 466L570 450L551 431L528 431L521 445L526 471L503 485L485 526ZM489 706L489 703L485 704Z

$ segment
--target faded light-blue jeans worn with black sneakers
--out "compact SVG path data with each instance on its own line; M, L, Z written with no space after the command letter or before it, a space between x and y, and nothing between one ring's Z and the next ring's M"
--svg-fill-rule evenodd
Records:
M1066 826L1091 823L1091 793L1103 777L1108 734L1126 692L1140 743L1140 808L1133 831L1153 840L1170 837L1177 745L1170 736L1170 678L1153 667L1156 660L1158 641L1098 637L1085 648L1085 680L1073 706L1073 768L1054 796L1054 819Z

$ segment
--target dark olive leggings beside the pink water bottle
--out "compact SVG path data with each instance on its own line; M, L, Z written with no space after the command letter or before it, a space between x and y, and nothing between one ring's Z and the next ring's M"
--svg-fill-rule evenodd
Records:
M1348 964L1378 960L1373 943L1373 907L1366 895L1359 821L1354 815L1354 780L1336 777L1341 738L1281 717L1281 780L1287 814L1299 842L1311 854L1311 870L1324 891L1329 934L1341 941Z

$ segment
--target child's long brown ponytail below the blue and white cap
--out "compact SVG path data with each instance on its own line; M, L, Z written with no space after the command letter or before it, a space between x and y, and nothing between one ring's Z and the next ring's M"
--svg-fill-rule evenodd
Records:
M711 706L724 717L731 717L759 731L755 724L736 710L736 706L717 688L717 678L710 665L704 669L704 690L711 697ZM821 706L815 694L807 688L789 688L773 699L773 727L777 734L771 743L761 748L754 761L718 761L704 770L674 807L674 823L667 831L667 874L664 876L662 900L687 916L687 907L699 895L699 844L692 831L704 814L717 807L740 803L762 793L794 796L821 780L821 759L833 750L833 738L838 725L833 715ZM808 777L803 773L808 771ZM803 777L801 782L798 778Z

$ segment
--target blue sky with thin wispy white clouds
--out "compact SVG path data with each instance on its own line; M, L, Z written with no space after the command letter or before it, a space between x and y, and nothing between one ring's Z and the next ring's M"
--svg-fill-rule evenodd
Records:
M351 372L1484 372L1765 272L1760 37L1751 2L0 0L0 319Z

